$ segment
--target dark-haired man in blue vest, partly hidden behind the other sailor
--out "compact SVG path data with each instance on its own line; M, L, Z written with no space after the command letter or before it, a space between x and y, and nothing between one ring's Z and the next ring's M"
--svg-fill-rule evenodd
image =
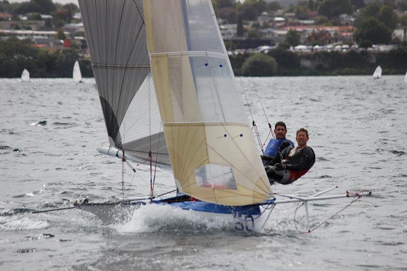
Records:
M264 155L261 156L261 159L263 159L263 163L265 165L268 164L273 159L277 152L282 152L282 150L285 147L287 146L294 147L293 141L285 138L285 135L287 134L287 128L285 126L285 123L277 122L274 125L273 132L276 137L275 139L274 138L270 139L269 144L267 144L266 150L264 151Z

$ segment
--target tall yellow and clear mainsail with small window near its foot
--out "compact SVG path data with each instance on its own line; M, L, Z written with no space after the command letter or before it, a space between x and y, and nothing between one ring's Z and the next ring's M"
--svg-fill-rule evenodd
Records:
M177 187L247 205L272 197L210 0L144 0L157 103Z

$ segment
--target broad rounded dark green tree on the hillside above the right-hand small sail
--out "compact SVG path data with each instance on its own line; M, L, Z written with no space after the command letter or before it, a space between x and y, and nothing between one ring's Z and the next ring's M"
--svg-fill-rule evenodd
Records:
M388 44L391 41L391 30L382 22L373 17L363 19L354 32L356 42L369 40L373 44Z

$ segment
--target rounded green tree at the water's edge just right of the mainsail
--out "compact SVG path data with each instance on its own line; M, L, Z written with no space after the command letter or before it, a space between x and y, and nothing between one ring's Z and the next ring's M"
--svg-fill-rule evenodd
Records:
M257 53L247 58L241 69L243 76L272 76L276 72L276 59L263 53Z

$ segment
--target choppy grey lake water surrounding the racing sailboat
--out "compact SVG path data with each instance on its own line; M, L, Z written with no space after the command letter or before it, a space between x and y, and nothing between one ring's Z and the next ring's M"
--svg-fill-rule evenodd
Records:
M242 82L241 82L242 80ZM253 85L254 81L254 85ZM121 161L108 145L94 79L0 79L1 270L407 269L407 87L403 76L237 78L266 139L284 121L288 138L305 127L314 167L274 192L312 194L369 189L310 234L297 204L276 206L264 232L235 231L193 213L143 206L126 224L102 225L77 209L120 199ZM244 96L242 95L243 99ZM246 101L245 101L246 104ZM247 113L250 117L248 107ZM251 117L250 117L251 118ZM147 166L127 169L126 193L149 193ZM174 188L159 169L156 193ZM310 205L312 227L351 199Z

